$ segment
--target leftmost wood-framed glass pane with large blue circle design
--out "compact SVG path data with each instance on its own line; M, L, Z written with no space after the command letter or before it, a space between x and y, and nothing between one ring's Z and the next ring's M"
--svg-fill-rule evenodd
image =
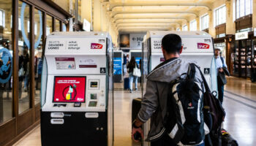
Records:
M0 4L0 125L12 118L11 15L12 0L2 1Z

